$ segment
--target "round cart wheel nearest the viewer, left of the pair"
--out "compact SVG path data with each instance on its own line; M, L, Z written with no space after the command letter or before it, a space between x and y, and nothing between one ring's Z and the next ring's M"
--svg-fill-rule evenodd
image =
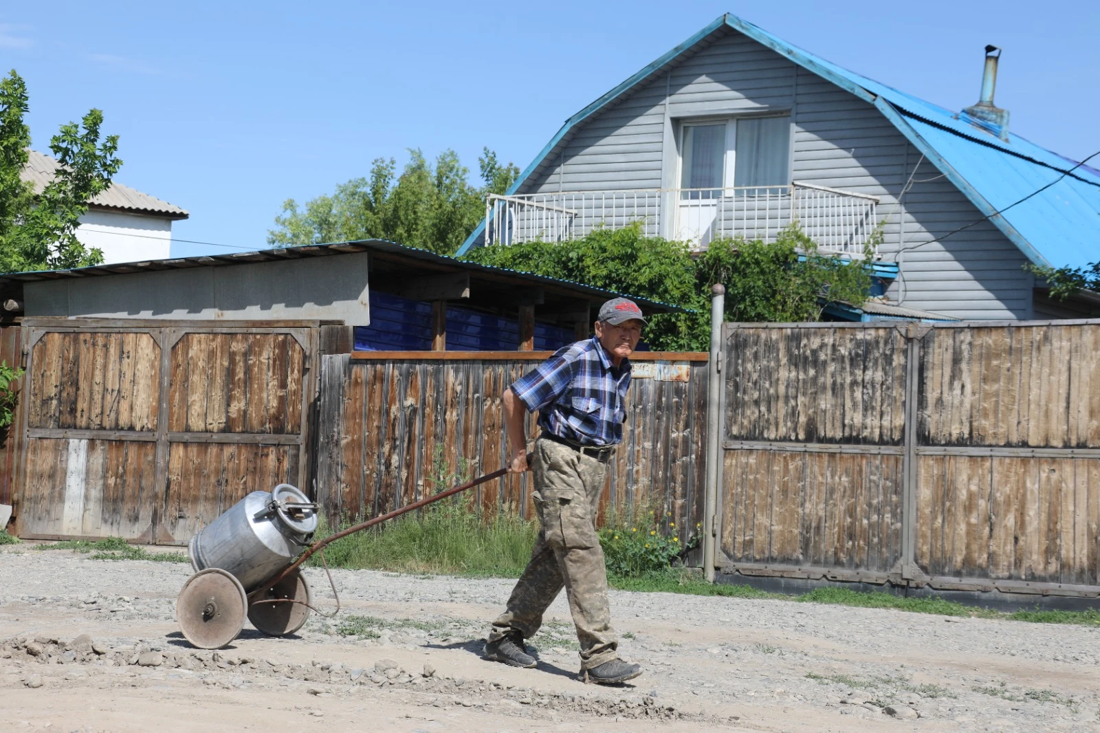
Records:
M176 599L176 621L188 642L220 649L241 633L248 612L241 581L220 568L196 572Z

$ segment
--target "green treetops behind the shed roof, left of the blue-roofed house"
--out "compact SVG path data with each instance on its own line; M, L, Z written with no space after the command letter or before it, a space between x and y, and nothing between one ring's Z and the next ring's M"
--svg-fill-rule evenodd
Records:
M319 244L356 239L389 239L449 254L454 252L485 216L485 195L504 193L519 175L512 163L501 165L484 149L479 158L482 187L452 150L429 164L419 150L409 151L405 169L396 177L394 158L376 158L369 178L352 178L331 196L319 196L299 208L293 198L267 232L271 244Z

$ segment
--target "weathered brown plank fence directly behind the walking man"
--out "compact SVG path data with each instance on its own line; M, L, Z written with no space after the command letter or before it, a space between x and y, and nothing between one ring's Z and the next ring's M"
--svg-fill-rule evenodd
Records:
M317 500L330 517L372 516L507 461L504 391L550 352L355 352L321 358ZM706 354L632 360L622 447L603 506L661 507L689 536L702 519ZM528 435L536 426L528 420ZM487 512L530 514L530 479L483 484Z

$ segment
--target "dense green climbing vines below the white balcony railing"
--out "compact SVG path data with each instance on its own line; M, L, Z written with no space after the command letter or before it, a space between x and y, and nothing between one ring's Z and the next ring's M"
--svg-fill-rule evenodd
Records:
M694 310L649 318L645 339L660 351L710 349L714 283L726 286L726 319L738 321L818 320L826 300L861 304L871 287L862 262L820 254L793 225L773 243L717 240L697 258L685 242L644 237L636 223L571 242L483 247L468 259Z

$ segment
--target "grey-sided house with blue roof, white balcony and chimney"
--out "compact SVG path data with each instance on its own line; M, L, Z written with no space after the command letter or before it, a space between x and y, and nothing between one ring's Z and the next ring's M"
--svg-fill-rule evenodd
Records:
M952 111L723 15L566 120L460 254L639 221L704 248L798 221L824 252L870 249L880 311L1100 314L1024 270L1100 260L1100 171L1010 129L986 53L980 101Z

